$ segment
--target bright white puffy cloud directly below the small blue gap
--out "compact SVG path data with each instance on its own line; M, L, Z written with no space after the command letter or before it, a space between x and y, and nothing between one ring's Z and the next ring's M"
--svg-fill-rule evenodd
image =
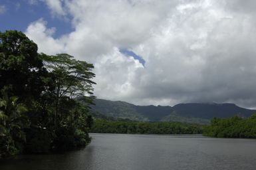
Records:
M132 57L126 57L118 48L112 48L109 54L104 54L94 64L94 81L98 84L96 94L110 100L130 99L136 88L132 82L136 81L136 73L143 69L142 64Z

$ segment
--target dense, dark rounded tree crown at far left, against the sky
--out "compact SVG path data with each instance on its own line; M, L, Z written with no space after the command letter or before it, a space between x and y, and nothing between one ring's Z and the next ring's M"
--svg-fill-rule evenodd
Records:
M9 96L19 96L26 104L44 89L43 61L37 44L18 31L0 33L0 89L8 86Z

